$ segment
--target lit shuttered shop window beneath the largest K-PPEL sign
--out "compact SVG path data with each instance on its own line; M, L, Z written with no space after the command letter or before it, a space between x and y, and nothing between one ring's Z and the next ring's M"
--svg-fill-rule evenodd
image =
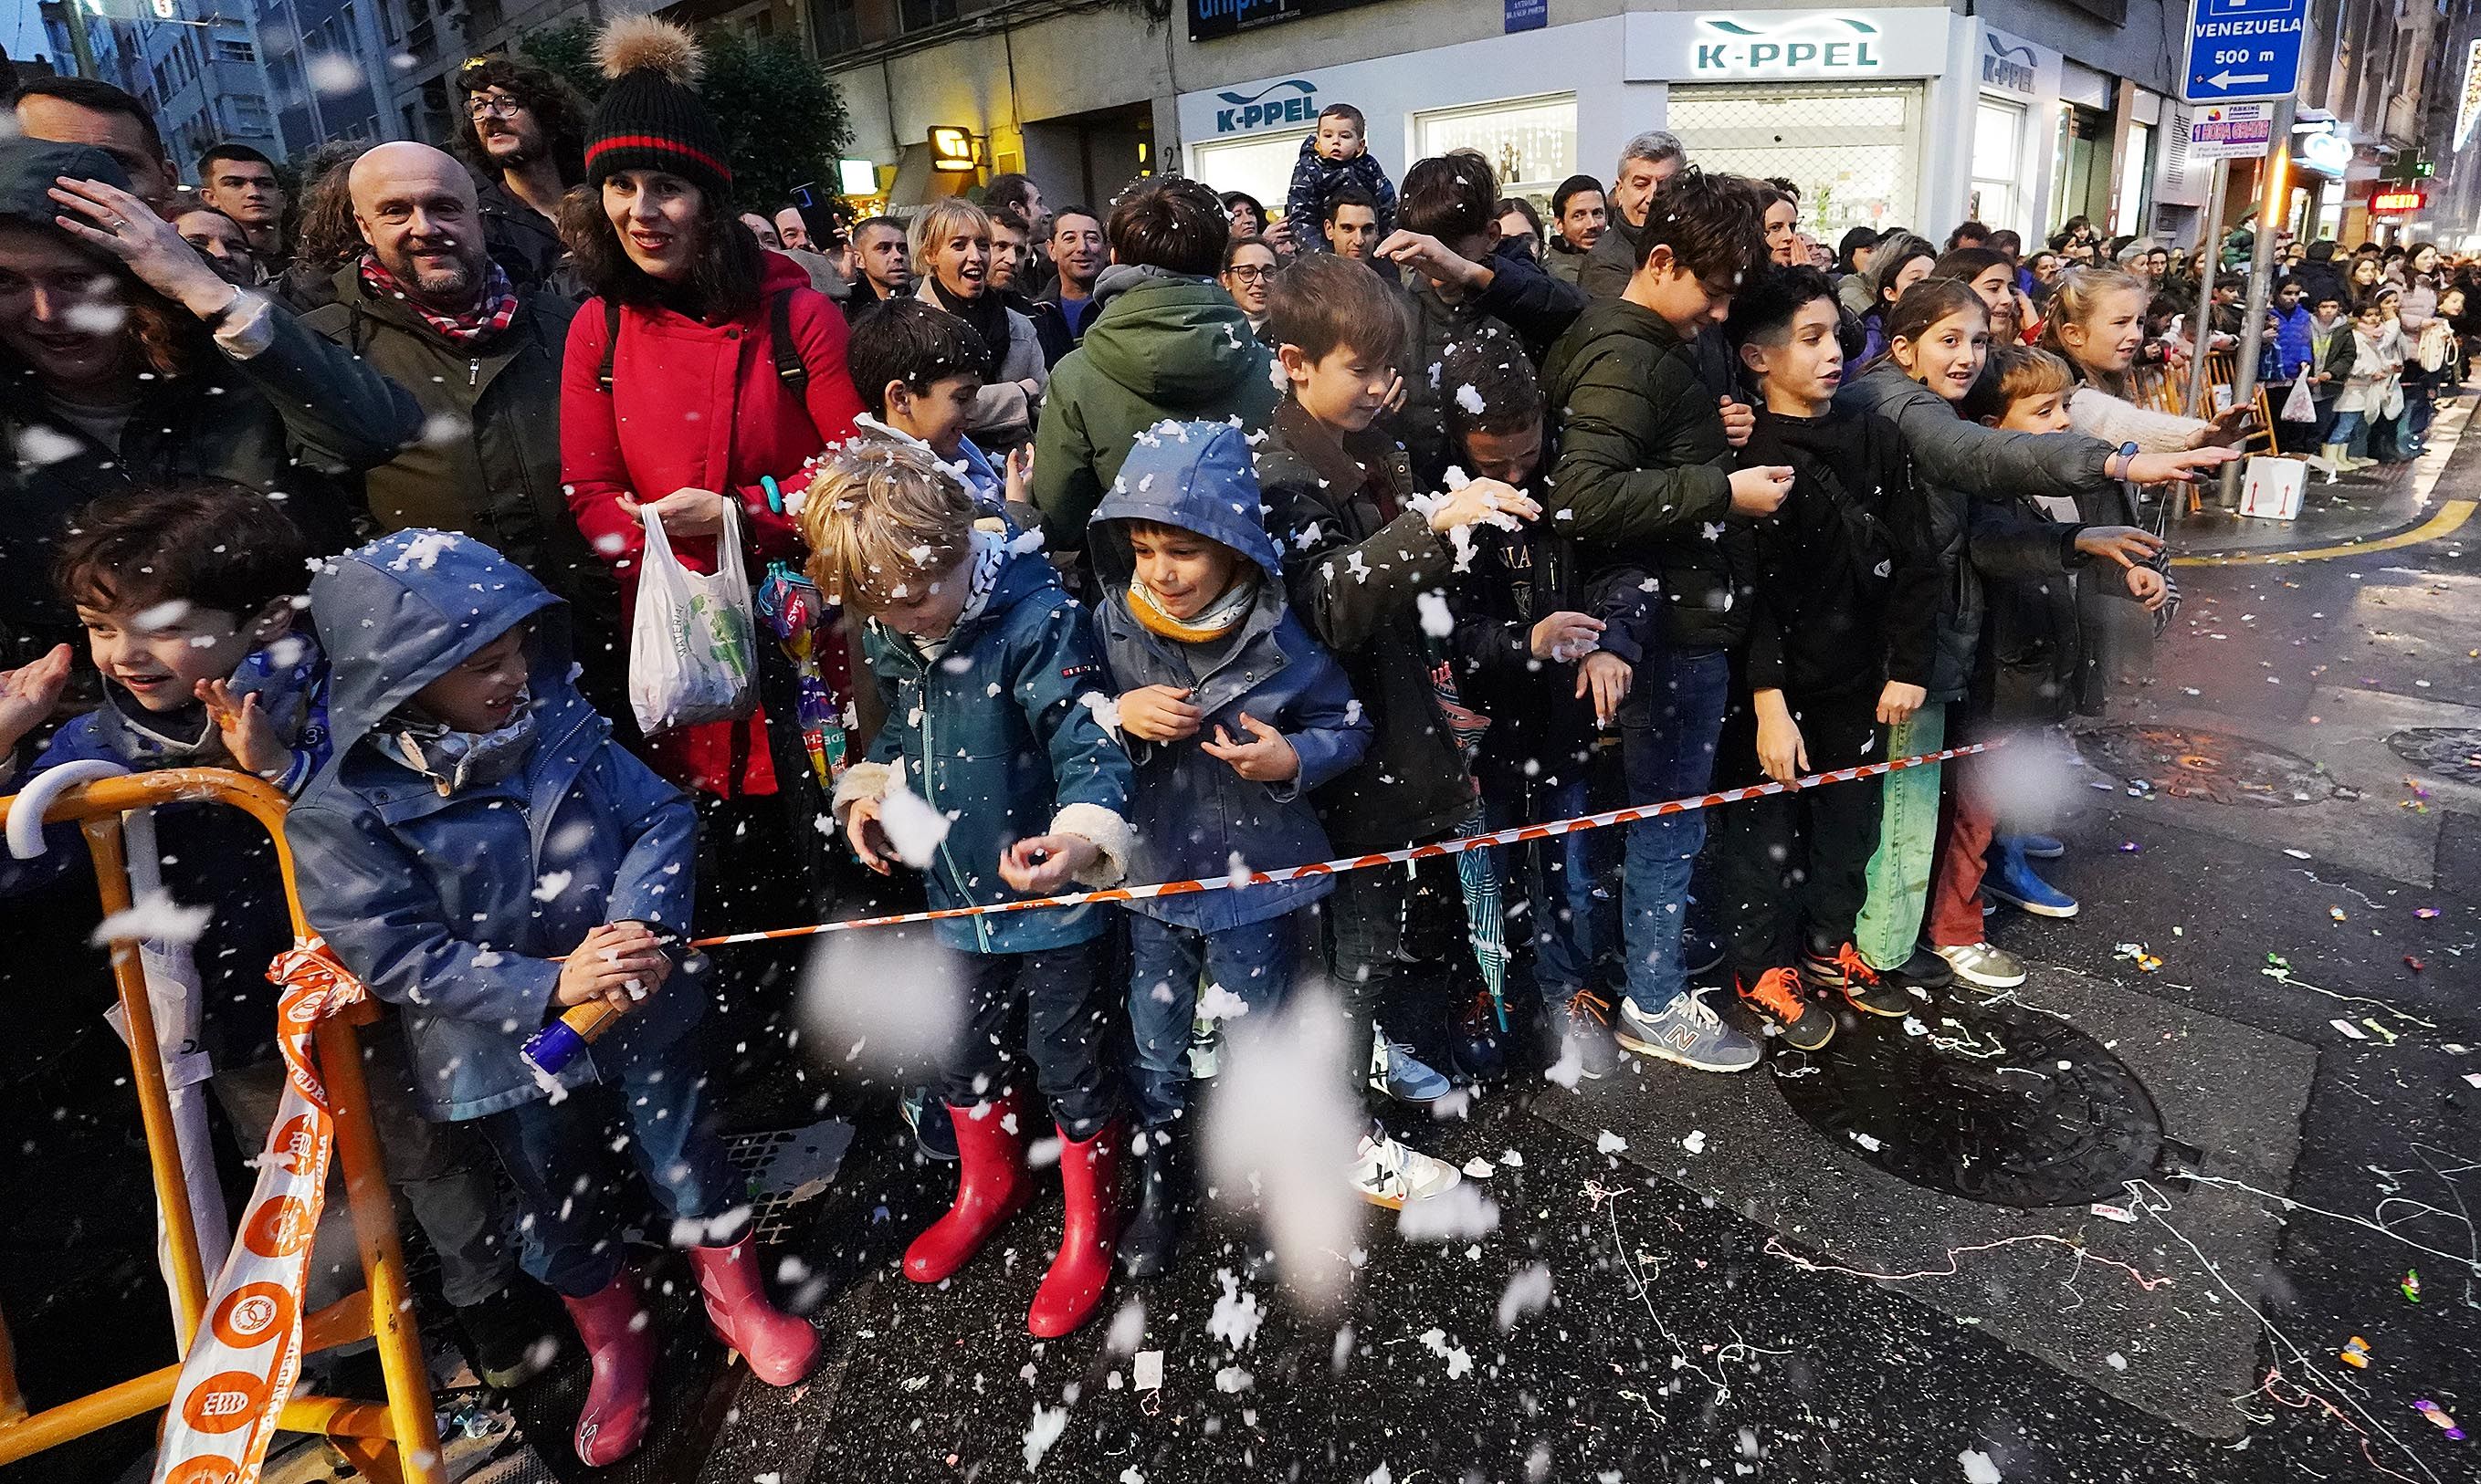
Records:
M1704 169L1796 184L1801 226L1821 241L1920 226L1920 84L1675 87L1665 127Z

